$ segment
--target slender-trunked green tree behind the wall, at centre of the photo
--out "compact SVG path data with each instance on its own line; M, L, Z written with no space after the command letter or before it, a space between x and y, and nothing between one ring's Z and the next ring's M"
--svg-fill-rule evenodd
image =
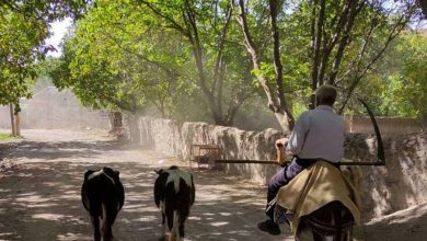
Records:
M224 0L137 2L151 10L150 20L153 25L161 30L174 30L191 46L197 69L195 84L201 92L214 122L218 125L232 125L235 113L253 94L253 89L247 88L252 77L234 69L233 62L242 62L246 67L247 58L243 56L242 59L242 56L236 54L241 46L233 44L236 26L231 18L233 9L230 2ZM224 95L224 90L233 91L229 93L231 95ZM229 101L224 101L227 99Z

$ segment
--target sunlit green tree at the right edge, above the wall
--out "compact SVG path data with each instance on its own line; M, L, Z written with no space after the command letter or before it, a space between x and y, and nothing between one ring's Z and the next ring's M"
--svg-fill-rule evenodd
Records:
M427 35L406 31L367 76L371 83L362 87L374 111L383 116L418 118L427 123Z

